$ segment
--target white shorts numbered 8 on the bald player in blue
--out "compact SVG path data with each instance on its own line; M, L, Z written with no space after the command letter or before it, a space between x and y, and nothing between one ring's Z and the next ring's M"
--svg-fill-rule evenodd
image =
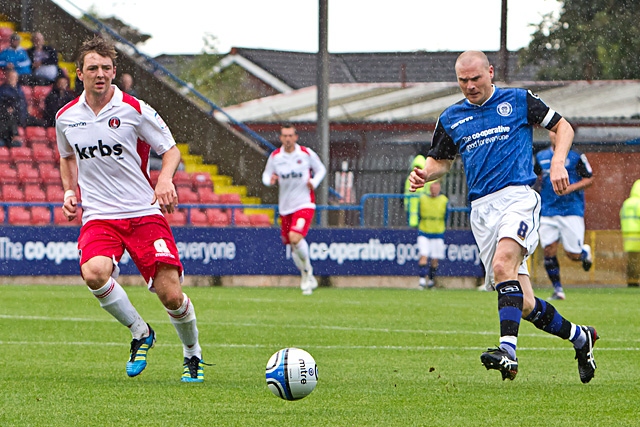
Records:
M510 186L471 202L471 231L485 268L485 287L493 290L493 256L498 242L510 238L526 249L518 274L529 275L527 258L538 246L540 195L526 185Z

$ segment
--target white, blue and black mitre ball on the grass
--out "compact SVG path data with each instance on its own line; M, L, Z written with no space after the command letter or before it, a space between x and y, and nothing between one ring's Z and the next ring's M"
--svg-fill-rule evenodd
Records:
M316 388L318 368L309 353L299 348L283 348L267 362L267 386L285 400L306 397Z

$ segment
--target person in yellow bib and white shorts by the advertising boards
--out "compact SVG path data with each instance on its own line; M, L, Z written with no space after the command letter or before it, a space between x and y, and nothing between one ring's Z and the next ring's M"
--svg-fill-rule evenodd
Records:
M418 259L420 289L435 286L439 260L444 259L446 247L444 232L447 228L449 199L440 194L440 181L429 185L429 192L420 193L418 199ZM429 280L427 281L427 276Z

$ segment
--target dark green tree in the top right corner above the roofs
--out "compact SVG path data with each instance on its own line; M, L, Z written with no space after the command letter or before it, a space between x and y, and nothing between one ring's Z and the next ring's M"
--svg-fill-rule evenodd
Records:
M524 64L543 80L640 78L640 1L565 0L559 17L544 16Z

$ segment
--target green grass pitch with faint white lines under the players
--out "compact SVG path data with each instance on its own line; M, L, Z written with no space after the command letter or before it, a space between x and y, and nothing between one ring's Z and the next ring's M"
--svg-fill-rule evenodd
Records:
M523 322L520 372L480 364L498 342L495 293L470 290L187 288L204 384L182 384L181 345L157 298L126 288L158 334L125 374L129 332L82 286L0 286L0 426L637 426L638 291L570 289L555 306L602 339L582 384L569 343ZM549 291L539 291L546 296ZM311 353L316 390L287 402L264 369Z

